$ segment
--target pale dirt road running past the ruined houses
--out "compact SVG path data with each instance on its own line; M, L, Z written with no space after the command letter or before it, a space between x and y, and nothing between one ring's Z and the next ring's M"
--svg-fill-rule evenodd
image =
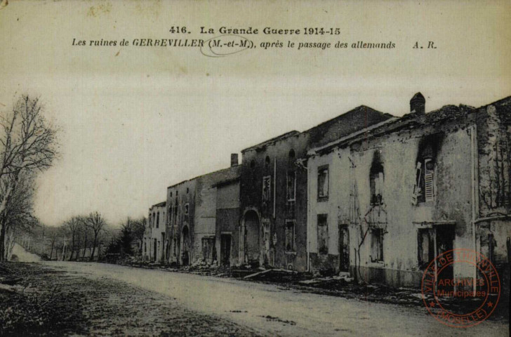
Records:
M435 321L423 308L322 296L271 284L101 263L44 265L89 279L126 282L151 291L152 300L175 300L186 310L226 319L266 336L417 336L419 331L420 336L507 336L502 322L453 329Z

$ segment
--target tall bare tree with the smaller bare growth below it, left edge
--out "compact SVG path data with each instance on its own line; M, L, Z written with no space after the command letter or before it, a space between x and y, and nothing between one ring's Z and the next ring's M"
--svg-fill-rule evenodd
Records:
M8 257L15 235L37 223L34 178L57 157L57 134L39 98L22 95L11 111L0 114L0 261Z

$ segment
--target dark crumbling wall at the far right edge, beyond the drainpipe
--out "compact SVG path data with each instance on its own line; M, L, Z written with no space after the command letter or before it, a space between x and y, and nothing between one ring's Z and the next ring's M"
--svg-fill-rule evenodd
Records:
M509 291L511 238L511 98L479 108L477 248L495 265Z

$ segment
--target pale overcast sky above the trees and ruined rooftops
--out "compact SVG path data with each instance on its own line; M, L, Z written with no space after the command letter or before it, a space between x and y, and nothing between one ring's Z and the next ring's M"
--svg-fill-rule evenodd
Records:
M62 128L60 159L38 178L36 216L58 225L95 210L112 224L145 215L168 185L229 166L230 153L359 105L401 116L417 91L427 110L511 95L508 2L254 3L11 1L1 9L0 111L21 93L39 95ZM187 25L190 38L200 26L340 27L340 41L397 47L206 58L193 48L72 46L173 38L172 25ZM416 41L438 48L414 50Z

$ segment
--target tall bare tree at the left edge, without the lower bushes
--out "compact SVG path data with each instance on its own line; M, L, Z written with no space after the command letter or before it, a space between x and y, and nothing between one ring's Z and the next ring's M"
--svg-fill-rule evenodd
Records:
M0 117L0 220L23 174L51 166L57 155L57 130L45 119L39 98L22 97L10 113ZM6 225L0 223L0 260L5 257Z

